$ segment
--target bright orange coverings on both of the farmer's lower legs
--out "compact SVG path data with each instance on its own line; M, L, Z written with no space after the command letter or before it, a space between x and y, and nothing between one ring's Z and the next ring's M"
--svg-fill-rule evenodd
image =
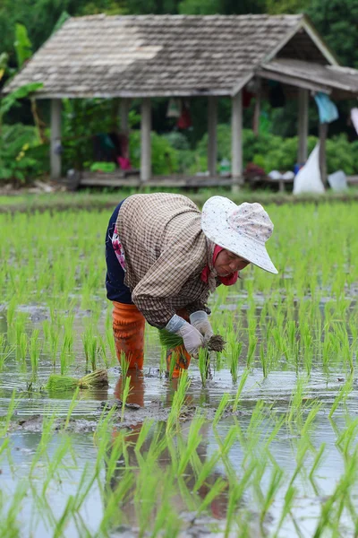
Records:
M179 314L179 312L178 312ZM180 312L183 315L183 311ZM145 319L135 305L113 301L113 334L117 359L124 353L129 362L129 369L142 370L144 361L144 325ZM172 364L175 360L175 364ZM172 377L179 377L182 369L188 369L190 354L183 345L166 351L166 370L172 371Z

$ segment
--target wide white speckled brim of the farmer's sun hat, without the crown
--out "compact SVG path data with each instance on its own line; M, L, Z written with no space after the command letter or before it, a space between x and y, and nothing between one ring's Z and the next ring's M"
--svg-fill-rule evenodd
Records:
M237 235L230 227L228 217L236 208L237 205L225 196L212 196L202 208L201 230L219 247L245 258L268 273L277 274L265 245L247 236Z

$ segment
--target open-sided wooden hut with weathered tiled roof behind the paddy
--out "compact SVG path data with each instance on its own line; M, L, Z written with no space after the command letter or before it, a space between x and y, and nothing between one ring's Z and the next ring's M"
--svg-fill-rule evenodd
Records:
M322 91L334 100L358 95L358 71L338 65L302 14L71 18L38 50L6 91L28 82L43 82L36 97L51 100L52 178L61 175L61 153L56 148L61 141L62 99L120 98L121 126L126 129L130 100L141 98L141 183L153 182L150 98L154 97L207 96L206 182L220 180L216 178L217 98L225 96L232 101L230 181L238 187L243 181L242 91L251 81L262 88L268 80L289 85L297 95L298 162L307 157L310 92ZM326 131L323 126L322 147ZM182 178L172 185L190 182L190 178ZM113 183L112 178L109 184ZM120 178L115 184L121 184Z

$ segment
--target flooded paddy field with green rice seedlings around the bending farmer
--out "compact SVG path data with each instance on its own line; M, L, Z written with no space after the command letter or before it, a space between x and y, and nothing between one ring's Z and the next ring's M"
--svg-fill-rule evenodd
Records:
M280 274L210 299L204 383L194 360L166 378L152 327L125 383L106 213L0 215L0 535L356 536L357 210L268 208ZM47 391L94 368L108 387Z

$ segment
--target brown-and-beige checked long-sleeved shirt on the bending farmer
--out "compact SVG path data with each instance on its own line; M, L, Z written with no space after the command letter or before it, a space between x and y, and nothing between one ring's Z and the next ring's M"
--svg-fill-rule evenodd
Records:
M198 207L183 195L132 195L121 206L116 228L124 247L124 283L150 325L166 326L180 308L210 313L209 285L200 273L211 265L214 244L200 219Z

